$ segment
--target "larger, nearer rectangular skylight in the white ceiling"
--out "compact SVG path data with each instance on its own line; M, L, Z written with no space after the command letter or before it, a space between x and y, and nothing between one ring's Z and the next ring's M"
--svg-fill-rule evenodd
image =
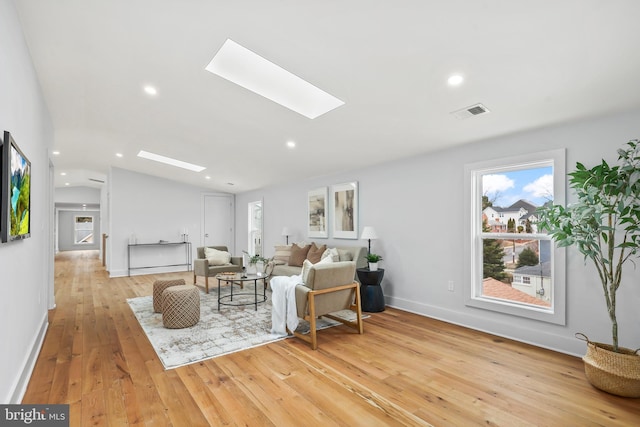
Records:
M344 104L230 39L205 69L310 119Z

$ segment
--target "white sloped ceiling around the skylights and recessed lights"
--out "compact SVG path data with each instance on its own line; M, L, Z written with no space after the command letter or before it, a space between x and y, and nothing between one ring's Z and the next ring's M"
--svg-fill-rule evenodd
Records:
M637 0L15 4L67 173L56 186L115 166L243 192L640 107ZM346 104L311 120L205 71L227 38ZM491 113L450 114L476 103Z

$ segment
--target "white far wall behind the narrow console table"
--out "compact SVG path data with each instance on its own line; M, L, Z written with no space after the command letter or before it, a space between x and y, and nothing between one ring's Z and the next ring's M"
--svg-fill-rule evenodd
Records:
M189 230L192 253L200 244L203 188L156 178L125 169L112 168L109 185L109 238L107 266L111 277L128 274L127 245L135 234L138 243L160 240L178 242L182 230ZM182 246L133 248L132 266L182 263ZM186 267L134 270L131 275L185 271Z

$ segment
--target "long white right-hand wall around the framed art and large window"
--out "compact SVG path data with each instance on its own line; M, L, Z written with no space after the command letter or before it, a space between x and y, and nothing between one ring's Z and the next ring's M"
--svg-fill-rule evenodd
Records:
M576 161L588 165L602 158L615 161L616 149L638 138L640 112L509 135L452 148L408 160L314 178L253 191L236 197L236 241L246 246L247 203L264 199L265 254L284 241L284 226L295 230L293 241L307 239L306 195L308 190L351 180L359 182L360 231L376 228L380 240L372 251L384 257L383 289L387 302L451 323L497 335L583 354L584 343L574 338L584 332L592 340L610 342L610 323L595 269L585 267L574 250L567 253L567 322L558 326L464 304L463 230L469 215L464 211L464 166L482 160L558 148L567 149L567 170ZM391 147L380 149L392 149ZM571 199L570 199L571 200ZM315 239L319 240L319 239ZM336 241L330 244L351 244ZM366 245L366 242L359 241ZM640 347L640 271L630 271L618 299L621 345ZM453 280L454 292L447 290ZM562 278L558 279L562 281Z

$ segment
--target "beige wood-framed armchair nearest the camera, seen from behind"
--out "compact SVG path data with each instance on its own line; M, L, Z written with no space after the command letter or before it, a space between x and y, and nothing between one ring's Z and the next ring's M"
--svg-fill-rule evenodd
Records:
M318 348L316 338L316 319L325 316L364 333L362 309L360 306L360 284L354 280L356 263L340 261L316 264L309 269L304 285L296 286L296 309L298 317L309 322L309 335L294 332L294 335ZM350 309L356 313L355 322L351 322L331 313Z

